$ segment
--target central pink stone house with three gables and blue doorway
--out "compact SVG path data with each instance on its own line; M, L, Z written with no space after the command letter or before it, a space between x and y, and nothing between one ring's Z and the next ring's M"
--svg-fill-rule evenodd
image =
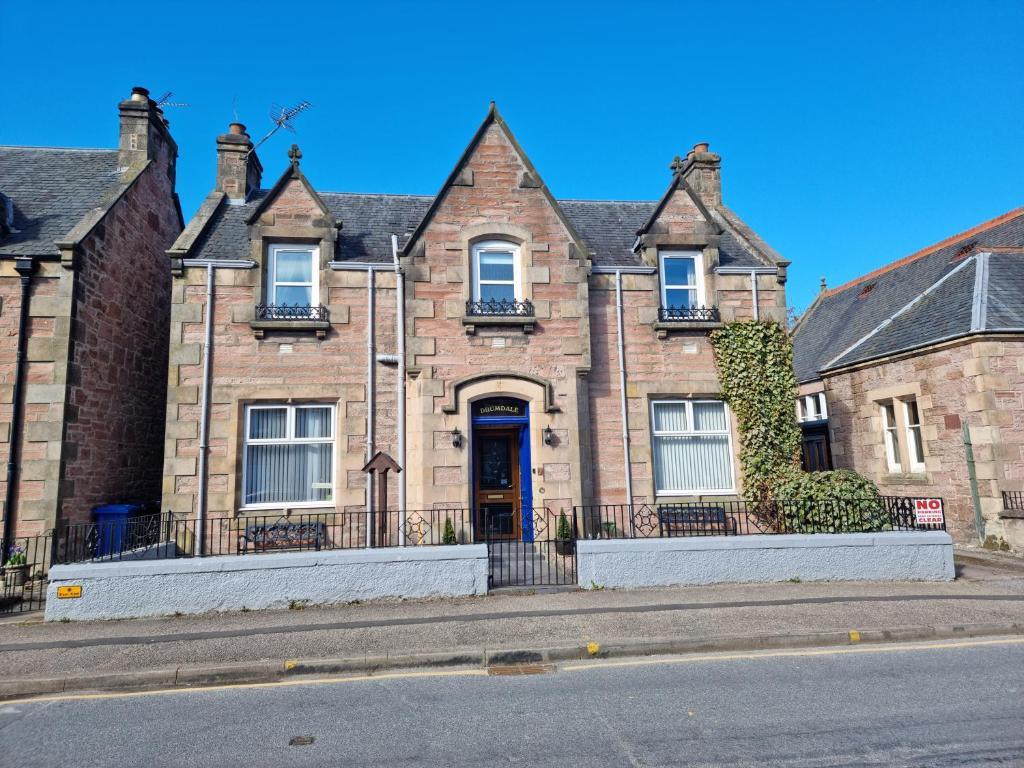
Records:
M361 510L377 451L392 508L510 537L540 505L741 493L708 335L784 321L787 262L708 144L645 202L556 200L494 105L434 197L318 191L295 146L261 188L240 124L217 151L168 251L166 510Z

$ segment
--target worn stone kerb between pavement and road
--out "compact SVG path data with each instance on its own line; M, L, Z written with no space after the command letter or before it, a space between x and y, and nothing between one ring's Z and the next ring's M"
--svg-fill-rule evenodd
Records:
M859 640L854 640L856 633ZM481 648L434 651L352 658L287 659L243 662L220 665L188 665L177 669L140 670L123 673L94 673L58 678L25 678L0 681L0 700L62 693L67 691L129 691L157 688L202 687L231 683L264 683L295 677L323 677L345 674L374 674L389 670L438 667L488 667L516 664L622 658L629 656L675 655L724 651L810 648L867 643L898 643L948 640L966 637L1024 635L1024 624L989 623L892 627L784 635L732 635L703 638L658 638L649 641L595 643L549 648ZM590 647L588 647L590 645Z

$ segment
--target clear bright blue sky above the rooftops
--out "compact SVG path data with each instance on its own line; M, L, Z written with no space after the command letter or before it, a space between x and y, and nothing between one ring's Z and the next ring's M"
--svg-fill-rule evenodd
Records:
M185 216L214 136L308 99L326 190L433 194L496 99L556 197L656 199L707 140L803 309L1024 205L1024 3L0 0L0 143L113 146L133 85L174 91ZM268 183L290 135L260 155Z

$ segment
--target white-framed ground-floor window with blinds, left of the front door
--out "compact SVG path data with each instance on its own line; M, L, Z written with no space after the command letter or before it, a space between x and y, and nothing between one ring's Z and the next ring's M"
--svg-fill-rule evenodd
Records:
M334 503L334 406L249 406L245 507Z

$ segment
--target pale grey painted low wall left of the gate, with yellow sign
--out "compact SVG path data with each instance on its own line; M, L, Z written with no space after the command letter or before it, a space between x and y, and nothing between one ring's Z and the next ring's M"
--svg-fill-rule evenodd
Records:
M46 621L132 618L242 608L287 608L382 597L453 597L487 592L487 548L449 547L289 552L180 560L54 565ZM80 585L82 597L57 599Z

